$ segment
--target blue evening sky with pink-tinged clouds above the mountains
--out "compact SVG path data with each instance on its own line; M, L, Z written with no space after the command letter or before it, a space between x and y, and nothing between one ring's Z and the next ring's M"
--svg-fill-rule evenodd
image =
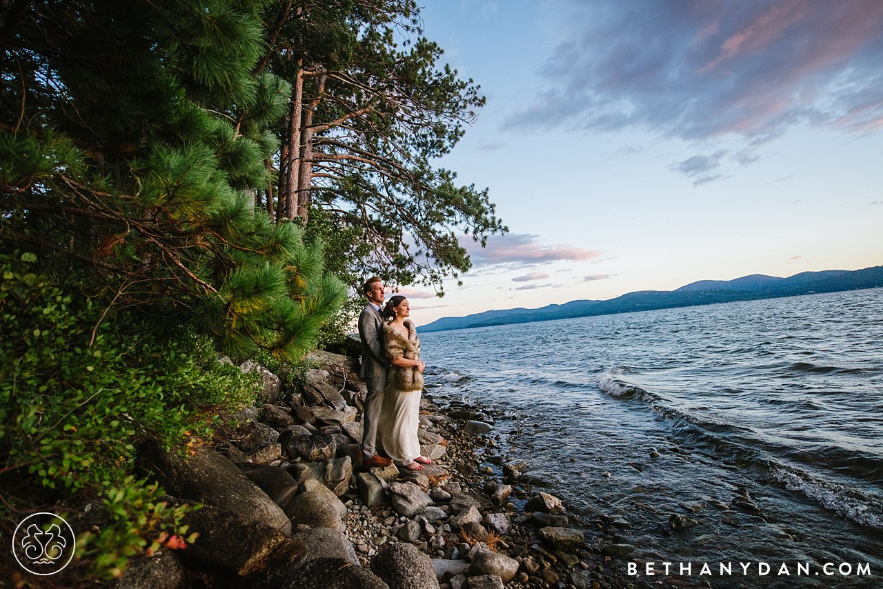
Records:
M437 165L509 233L426 325L698 280L883 264L883 2L425 0L487 96Z

